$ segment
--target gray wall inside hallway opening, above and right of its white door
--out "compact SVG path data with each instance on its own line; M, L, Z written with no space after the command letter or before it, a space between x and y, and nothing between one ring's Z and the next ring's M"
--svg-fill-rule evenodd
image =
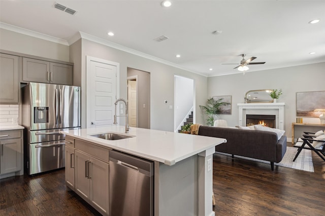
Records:
M127 68L127 76L138 76L138 127L150 128L150 73ZM146 107L143 108L143 104Z

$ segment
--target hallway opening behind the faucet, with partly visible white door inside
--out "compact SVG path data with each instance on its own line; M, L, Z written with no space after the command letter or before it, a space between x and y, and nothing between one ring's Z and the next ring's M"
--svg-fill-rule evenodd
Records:
M127 101L129 126L150 129L149 72L127 68Z

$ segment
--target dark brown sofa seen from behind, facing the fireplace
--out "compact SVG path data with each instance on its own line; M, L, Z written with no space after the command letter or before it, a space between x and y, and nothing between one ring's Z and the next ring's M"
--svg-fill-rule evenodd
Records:
M271 162L272 170L274 162L280 162L286 151L286 136L278 140L273 132L201 125L198 135L225 138L227 142L217 145L215 151L232 154L233 157L239 155L267 160Z

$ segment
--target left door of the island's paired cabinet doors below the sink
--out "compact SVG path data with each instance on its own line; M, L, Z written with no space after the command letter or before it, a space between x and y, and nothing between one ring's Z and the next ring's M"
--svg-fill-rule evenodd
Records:
M89 200L89 179L87 177L90 158L75 150L75 191L82 198Z

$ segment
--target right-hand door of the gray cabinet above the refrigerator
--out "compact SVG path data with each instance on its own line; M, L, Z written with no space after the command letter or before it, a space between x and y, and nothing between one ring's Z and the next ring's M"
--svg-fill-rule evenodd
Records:
M60 63L50 64L50 82L53 84L72 85L72 66Z

